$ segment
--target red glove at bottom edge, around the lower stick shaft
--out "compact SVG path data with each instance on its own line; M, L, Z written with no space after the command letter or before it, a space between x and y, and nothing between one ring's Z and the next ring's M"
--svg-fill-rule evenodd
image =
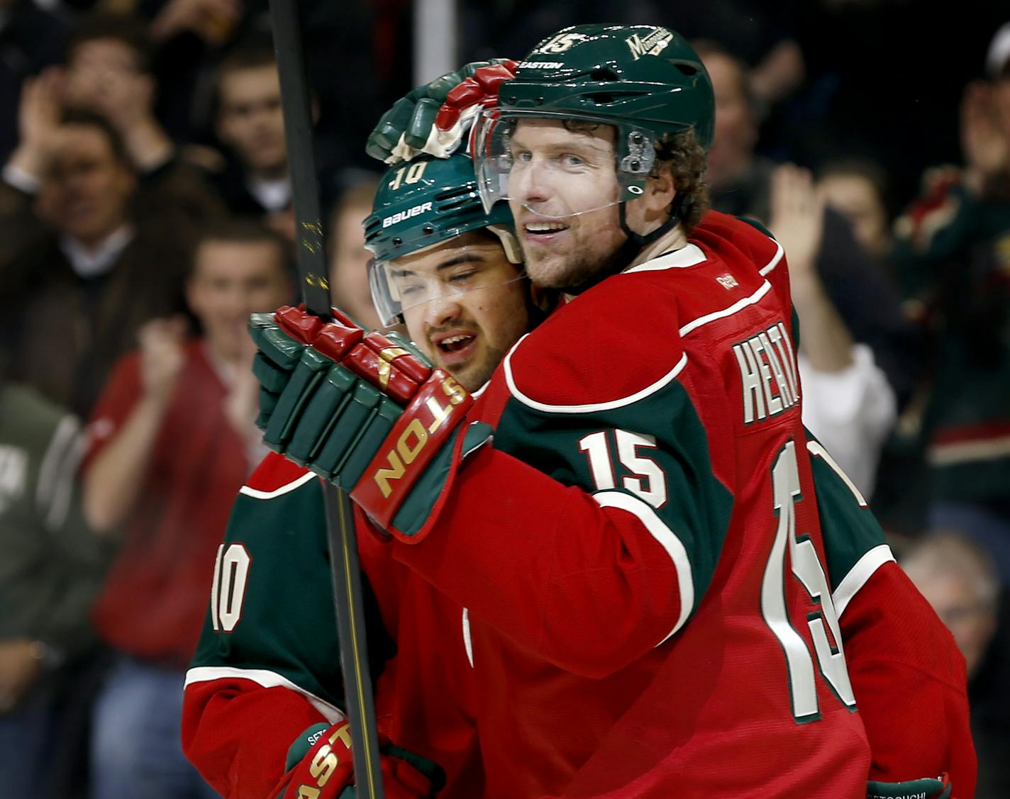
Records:
M429 799L445 784L444 772L429 760L389 743L380 752L387 799ZM298 736L275 794L277 799L356 799L352 783L350 727L342 720L329 727L315 724Z

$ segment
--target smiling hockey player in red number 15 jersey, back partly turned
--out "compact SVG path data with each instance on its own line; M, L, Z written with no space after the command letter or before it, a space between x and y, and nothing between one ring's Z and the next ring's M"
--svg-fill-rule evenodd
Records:
M587 43L610 48L591 81L569 61ZM781 249L696 224L706 105L682 46L584 27L520 65L479 128L482 189L575 299L473 407L426 378L364 476L333 475L470 609L488 796L862 796L871 774L833 599L851 616L895 570L819 529ZM633 80L661 54L679 77ZM296 416L310 451L361 440Z

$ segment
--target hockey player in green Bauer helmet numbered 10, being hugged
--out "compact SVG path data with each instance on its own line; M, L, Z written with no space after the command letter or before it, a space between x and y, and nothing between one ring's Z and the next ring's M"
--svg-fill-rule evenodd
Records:
M467 156L421 159L389 170L365 227L374 254L369 271L379 315L386 324L406 323L431 366L442 370L434 374L451 375L465 389L477 391L504 351L542 316L522 265L515 263L518 249L508 208L485 213ZM545 296L537 292L535 300ZM283 324L309 318L290 308L282 316ZM344 323L330 326L329 333L340 327L343 334L365 340L363 331L348 333L352 324L341 318ZM261 424L270 431L272 446L308 462L311 447L300 448L301 426L271 429L269 409L278 400L269 396L269 387L283 377L293 353L311 347L285 334L271 318L261 317L259 324L260 340L276 344L264 347L258 360L266 386ZM368 339L370 344L377 340L383 339L376 334ZM395 336L384 344L392 358L378 363L390 368L387 386L405 385L405 360L413 360L412 375L431 371L423 355L407 355L409 345ZM348 397L334 428L340 432L327 437L330 450L373 434L385 408L400 410L378 402L381 370L352 371L361 363L330 370L329 388L342 386ZM306 408L302 422L309 424L314 413ZM329 462L327 474L352 480L347 460ZM321 471L318 463L313 467ZM354 787L346 787L351 773L344 757L346 721L323 557L322 494L312 477L282 455L268 456L236 498L221 546L215 573L224 577L215 581L212 610L187 677L183 737L187 756L224 796L354 796ZM389 547L366 531L370 522L364 514L358 514L357 524L367 593L375 597L369 605L369 621L375 622L370 655L377 666L394 655L374 682L383 740L398 744L384 743L385 795L433 795L441 783L434 763L445 773L439 797L479 797L483 767L472 720L475 686L466 611L397 565ZM281 528L295 535L279 535ZM297 591L286 590L294 575ZM264 725L268 718L271 723ZM313 776L316 759L325 758L320 755L324 745L339 768L332 774L315 768ZM316 779L321 776L324 784Z

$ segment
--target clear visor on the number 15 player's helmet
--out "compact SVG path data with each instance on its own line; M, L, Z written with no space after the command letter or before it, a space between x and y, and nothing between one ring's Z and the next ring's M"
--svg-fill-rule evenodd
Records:
M615 149L612 140L596 134L604 125L613 128L612 121L579 118L585 128L570 128L558 119L559 126L538 129L522 125L523 118L489 108L474 123L471 153L485 211L505 200L538 216L566 219L632 200L644 191L655 163L648 131L618 131ZM579 182L591 190L572 191ZM561 186L568 190L558 191ZM539 200L543 190L549 202Z

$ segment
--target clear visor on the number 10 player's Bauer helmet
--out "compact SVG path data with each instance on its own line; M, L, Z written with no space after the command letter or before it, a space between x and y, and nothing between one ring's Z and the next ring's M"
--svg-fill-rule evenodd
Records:
M494 241L458 247L434 247L409 258L369 263L372 301L384 325L421 305L456 302L524 280L526 273L505 258Z

